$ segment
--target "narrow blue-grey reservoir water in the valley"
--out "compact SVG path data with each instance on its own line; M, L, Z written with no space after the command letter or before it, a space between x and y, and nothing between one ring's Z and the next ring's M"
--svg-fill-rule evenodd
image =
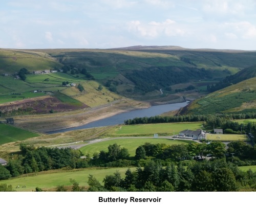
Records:
M72 131L72 130L78 130L78 129L87 129L87 128L93 128L93 127L101 127L101 126L112 126L112 125L118 125L118 124L124 124L125 120L128 119L134 119L136 117L154 117L157 115L160 115L164 112L173 111L180 109L188 104L187 102L182 103L174 103L174 104L164 104L164 105L156 105L151 106L149 108L143 108L143 109L137 109L132 110L128 112L123 112L116 114L112 117L100 119L94 122L90 122L88 124L84 124L78 127L71 127L67 129L61 129L56 131L49 131L47 133L54 134L59 132L65 132L65 131Z

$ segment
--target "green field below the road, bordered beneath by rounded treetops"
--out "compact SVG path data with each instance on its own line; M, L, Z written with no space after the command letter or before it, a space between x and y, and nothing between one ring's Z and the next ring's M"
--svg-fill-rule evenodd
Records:
M144 145L146 142L151 144L163 143L166 145L178 145L178 144L188 144L193 141L185 140L168 140L168 139L155 139L155 138L126 138L126 139L113 139L106 140L103 142L93 143L84 147L81 147L81 150L84 154L93 155L94 152L108 151L109 145L118 144L121 148L128 149L130 156L135 156L135 151L140 145Z

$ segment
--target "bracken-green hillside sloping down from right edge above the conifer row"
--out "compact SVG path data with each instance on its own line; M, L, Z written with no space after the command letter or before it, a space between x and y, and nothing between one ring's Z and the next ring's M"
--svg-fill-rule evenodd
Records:
M256 77L230 85L195 100L181 113L236 113L256 111Z

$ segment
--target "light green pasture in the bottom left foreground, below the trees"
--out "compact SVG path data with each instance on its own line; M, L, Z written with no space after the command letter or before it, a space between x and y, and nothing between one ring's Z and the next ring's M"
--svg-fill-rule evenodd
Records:
M56 188L58 185L72 186L70 178L75 179L79 186L88 186L88 177L93 175L101 183L106 175L112 175L116 171L121 173L121 176L125 176L125 172L128 168L92 168L92 169L80 169L80 170L67 170L61 172L61 170L39 172L37 175L30 174L29 176L22 176L8 180L0 180L0 184L6 183L12 185L14 190L17 191L35 191L35 188L41 188L43 190ZM136 168L130 168L132 171ZM47 174L43 174L47 173ZM22 186L26 185L26 188ZM16 186L19 186L16 189Z

